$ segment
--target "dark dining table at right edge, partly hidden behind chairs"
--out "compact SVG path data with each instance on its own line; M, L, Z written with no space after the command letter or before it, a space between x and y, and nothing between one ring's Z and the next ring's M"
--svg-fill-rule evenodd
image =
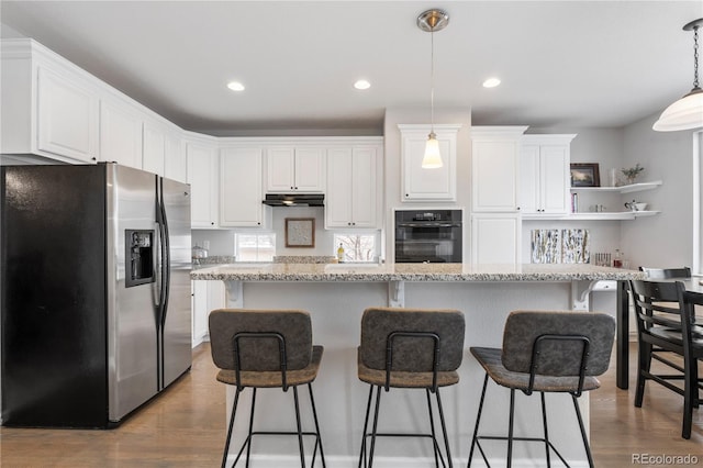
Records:
M671 278L657 281L681 281L685 289L683 300L694 305L703 305L703 278ZM617 288L617 341L615 349L615 383L627 390L629 376L629 283L618 281Z

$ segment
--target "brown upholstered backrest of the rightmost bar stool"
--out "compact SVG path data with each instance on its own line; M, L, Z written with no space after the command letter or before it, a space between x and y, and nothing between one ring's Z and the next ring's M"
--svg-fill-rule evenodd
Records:
M600 376L610 365L614 335L615 319L605 313L513 311L503 330L503 366L529 374L535 360L535 375L579 376L588 342L583 375Z

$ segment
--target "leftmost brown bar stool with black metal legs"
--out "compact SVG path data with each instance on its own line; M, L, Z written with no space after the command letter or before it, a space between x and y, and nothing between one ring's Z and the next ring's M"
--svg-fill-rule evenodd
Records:
M297 435L300 448L300 465L305 467L303 436L314 436L315 447L311 466L314 466L317 449L325 467L320 424L315 411L312 381L317 376L323 347L312 345L310 314L301 310L248 310L219 309L210 313L210 343L212 360L221 370L217 380L236 386L232 415L227 428L222 467L226 466L230 441L237 411L239 393L253 389L248 435L234 460L236 466L246 448L246 465L249 466L252 437L254 435ZM310 393L315 432L303 432L300 421L298 386L306 385ZM259 388L293 389L295 432L254 431L256 391Z

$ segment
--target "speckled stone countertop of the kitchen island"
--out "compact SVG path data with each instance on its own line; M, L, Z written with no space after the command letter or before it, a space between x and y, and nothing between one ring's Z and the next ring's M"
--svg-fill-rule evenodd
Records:
M646 279L640 271L587 264L231 264L196 280L234 281L573 281Z

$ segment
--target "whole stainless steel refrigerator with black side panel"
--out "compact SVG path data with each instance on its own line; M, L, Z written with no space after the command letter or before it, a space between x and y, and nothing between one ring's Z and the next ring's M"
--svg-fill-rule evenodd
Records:
M111 427L191 366L190 187L1 168L2 424Z

